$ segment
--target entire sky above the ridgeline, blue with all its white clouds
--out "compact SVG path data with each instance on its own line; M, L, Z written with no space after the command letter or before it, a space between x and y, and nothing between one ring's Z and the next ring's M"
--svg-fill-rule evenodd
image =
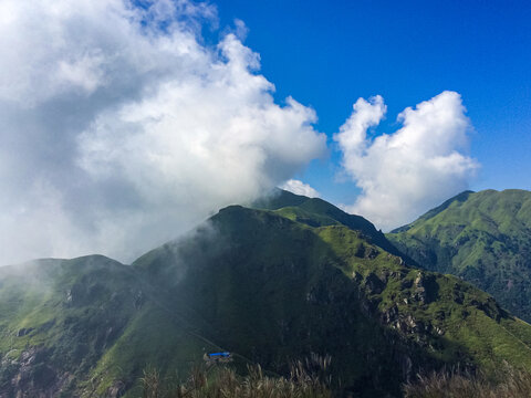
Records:
M280 186L389 230L530 189L525 1L0 2L0 264L129 262Z

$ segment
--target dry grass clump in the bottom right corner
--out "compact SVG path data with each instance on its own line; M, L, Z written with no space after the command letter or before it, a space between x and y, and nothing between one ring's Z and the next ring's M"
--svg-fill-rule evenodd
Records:
M404 386L406 398L527 398L531 397L531 371L509 366L493 374L476 376L459 373L434 373L419 376Z

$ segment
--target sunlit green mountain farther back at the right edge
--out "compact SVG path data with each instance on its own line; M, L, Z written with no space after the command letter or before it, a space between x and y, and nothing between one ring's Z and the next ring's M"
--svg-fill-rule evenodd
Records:
M530 191L466 191L387 238L426 269L462 277L531 321Z

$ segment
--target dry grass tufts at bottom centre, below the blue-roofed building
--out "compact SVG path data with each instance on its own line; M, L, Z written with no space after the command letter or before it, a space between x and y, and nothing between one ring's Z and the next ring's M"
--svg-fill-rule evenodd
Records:
M223 366L195 367L186 383L174 386L147 368L140 383L145 398L331 398L329 366L329 356L312 355L293 363L289 377L266 376L260 365L249 366L247 376Z

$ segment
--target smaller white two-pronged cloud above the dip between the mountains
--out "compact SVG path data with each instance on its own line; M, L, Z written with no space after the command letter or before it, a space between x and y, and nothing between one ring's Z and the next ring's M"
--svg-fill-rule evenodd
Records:
M465 190L479 165L464 154L470 124L458 93L442 92L404 109L402 128L371 137L367 129L385 112L381 96L360 98L334 139L344 170L362 189L346 210L388 230Z

